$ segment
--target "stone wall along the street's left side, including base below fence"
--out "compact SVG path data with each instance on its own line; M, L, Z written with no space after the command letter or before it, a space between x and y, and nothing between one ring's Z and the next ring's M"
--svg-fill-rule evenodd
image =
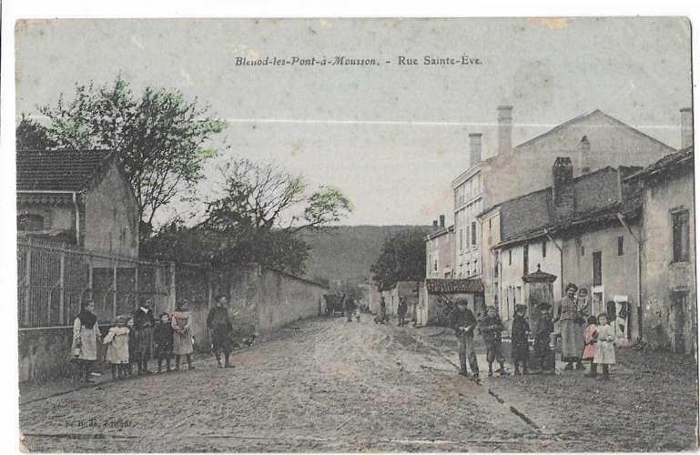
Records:
M210 344L207 315L218 294L229 298L237 339L265 335L299 319L320 315L328 288L304 278L237 264L226 268L178 267L176 298L187 298L197 349ZM72 319L71 319L72 323ZM103 333L108 326L102 327ZM19 332L19 380L66 376L70 371L72 327L21 329ZM104 350L104 348L102 348ZM104 358L104 352L102 353Z

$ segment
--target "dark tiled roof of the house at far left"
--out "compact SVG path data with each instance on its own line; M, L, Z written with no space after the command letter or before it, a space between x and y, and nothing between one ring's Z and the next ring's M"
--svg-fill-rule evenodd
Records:
M108 150L18 152L17 191L80 191L110 157Z

